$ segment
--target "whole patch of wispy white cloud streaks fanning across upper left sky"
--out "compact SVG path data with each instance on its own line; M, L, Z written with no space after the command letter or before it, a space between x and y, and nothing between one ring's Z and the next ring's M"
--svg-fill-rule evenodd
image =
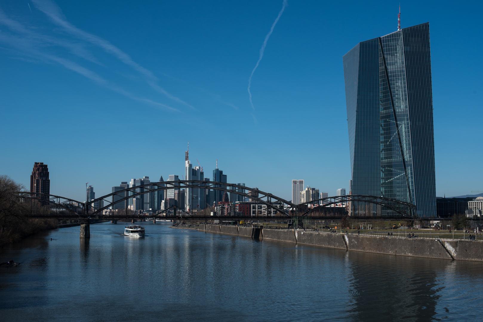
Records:
M54 22L54 24L58 27L61 27L61 32L59 33L59 29L56 28L53 29L54 33L52 34L52 32L50 32L51 34L49 35L49 32L45 32L45 30L51 30L51 28L39 28L38 26L27 27L27 24L11 18L0 8L0 25L8 28L0 30L0 42L7 44L9 50L13 50L17 55L19 54L19 57L16 58L27 56L30 58L28 59L29 61L57 64L88 78L95 84L108 88L130 99L165 110L180 112L178 109L167 104L157 102L154 99L143 98L142 95L136 95L130 91L127 91L126 89L122 88L122 86L114 84L114 82L108 81L106 78L100 76L99 73L82 66L84 64L82 64L81 61L74 62L68 57L69 54L71 54L82 58L87 62L107 68L91 51L91 49L98 47L101 48L105 53L116 57L129 68L139 73L142 76L143 81L157 93L163 94L178 104L196 110L184 100L171 95L168 91L159 86L157 84L157 77L150 70L145 69L140 64L133 61L128 54L124 53L110 42L96 35L85 32L69 23L62 14L60 8L54 2L50 0L33 0L32 2L34 8L39 9L49 18L50 21ZM31 12L32 9L30 8L30 5L28 5L28 7L29 11ZM39 16L37 15L37 17ZM74 38L71 37L72 35ZM63 48L64 50L59 50L60 48Z

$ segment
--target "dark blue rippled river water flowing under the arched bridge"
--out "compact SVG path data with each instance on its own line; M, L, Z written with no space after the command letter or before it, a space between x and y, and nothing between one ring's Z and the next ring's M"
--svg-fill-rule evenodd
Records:
M3 321L479 321L483 265L169 224L61 228L0 248ZM52 238L52 240L50 239Z

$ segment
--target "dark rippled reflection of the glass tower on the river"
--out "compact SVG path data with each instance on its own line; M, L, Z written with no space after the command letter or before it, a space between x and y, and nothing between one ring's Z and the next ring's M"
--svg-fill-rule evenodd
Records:
M441 273L481 274L481 264L348 252L352 280L351 315L357 321L433 321L441 313ZM478 265L480 264L480 265Z

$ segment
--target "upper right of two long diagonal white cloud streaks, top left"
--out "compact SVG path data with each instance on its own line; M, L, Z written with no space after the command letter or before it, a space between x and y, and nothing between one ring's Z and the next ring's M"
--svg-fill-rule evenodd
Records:
M102 48L106 53L115 56L121 62L139 72L144 77L146 83L158 93L165 95L167 98L170 98L177 103L183 104L191 109L195 109L192 105L186 103L181 98L171 95L164 88L159 86L157 84L157 77L150 70L147 70L140 64L136 63L128 54L114 46L111 42L77 28L68 22L64 14L62 14L61 9L54 2L50 0L32 0L32 2L37 9L46 14L57 26L63 28L65 31L79 39L90 42L91 44Z

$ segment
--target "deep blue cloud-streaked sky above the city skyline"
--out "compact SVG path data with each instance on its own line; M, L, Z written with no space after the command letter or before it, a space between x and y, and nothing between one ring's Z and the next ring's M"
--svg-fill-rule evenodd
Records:
M96 196L181 177L189 141L211 178L287 200L290 180L348 188L342 56L397 30L399 2L0 1L0 174ZM430 23L436 193L483 190L481 2L401 3Z

